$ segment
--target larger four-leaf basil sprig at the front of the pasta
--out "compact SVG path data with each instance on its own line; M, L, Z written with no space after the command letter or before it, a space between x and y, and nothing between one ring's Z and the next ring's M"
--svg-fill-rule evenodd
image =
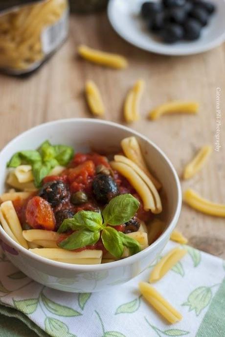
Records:
M116 259L121 258L124 247L129 249L131 255L136 254L141 250L139 243L111 226L129 221L135 215L139 205L139 201L133 195L121 194L109 202L102 214L81 210L73 218L66 219L61 224L58 233L68 230L75 232L58 245L67 250L92 245L99 240L101 232L104 247Z

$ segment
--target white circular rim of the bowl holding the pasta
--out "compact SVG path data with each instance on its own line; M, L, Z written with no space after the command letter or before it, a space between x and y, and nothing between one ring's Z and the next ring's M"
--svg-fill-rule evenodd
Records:
M158 239L153 242L149 247L145 248L144 250L142 250L141 252L132 255L130 257L127 257L125 259L120 259L120 260L116 260L113 262L107 262L107 263L101 263L101 264L72 264L72 263L65 263L65 262L59 262L59 261L54 261L54 260L50 260L50 259L46 259L43 258L41 256L38 256L32 252L30 252L29 250L25 249L24 247L22 247L19 243L15 242L5 231L4 229L0 226L0 233L3 237L5 237L10 244L12 245L13 248L15 248L16 250L19 250L19 252L22 252L26 257L30 258L30 259L35 259L38 262L42 262L45 265L51 265L53 267L58 267L58 268L62 268L62 269L66 269L66 270L70 270L70 271L87 271L87 272L91 272L91 271L101 271L101 270L106 270L106 269L112 269L112 268L116 268L116 267L124 267L126 265L130 265L134 262L136 262L137 260L144 258L145 256L147 256L152 250L154 250L154 248L160 244L160 242L163 242L166 240L166 237L168 236L168 234L170 234L172 232L172 230L174 229L174 227L177 224L177 221L179 219L180 216L180 209L181 209L181 203L182 203L182 194L181 194L181 187L180 187L180 180L178 178L177 172L173 166L173 164L171 163L170 159L164 154L164 152L154 143L152 142L148 137L142 135L141 133L139 133L138 131L135 131L131 128L128 128L124 125L120 125L118 123L114 123L111 121L105 121L102 119L91 119L91 118L66 118L66 119L58 119L58 120L53 120L53 121L49 121L46 123L42 123L39 124L33 128L30 128L28 130L23 131L22 133L20 133L19 135L17 135L16 137L14 137L10 142L8 142L0 151L0 157L2 156L2 154L4 154L5 152L7 152L7 148L9 145L14 144L17 142L18 138L20 138L21 136L27 136L30 133L32 134L32 132L34 130L37 129L41 129L44 126L52 126L52 125L56 125L56 124L64 124L64 123L74 123L74 122L89 122L89 123L94 123L94 124L102 124L102 125L108 125L108 126L112 126L115 128L119 128L125 131L130 132L133 135L136 135L140 138L142 138L143 140L145 140L147 143L150 143L151 146L153 146L158 153L164 158L164 160L167 162L167 164L170 167L170 170L172 171L175 181L176 181L176 187L177 187L177 196L178 196L178 202L177 202L177 206L174 212L174 216L172 218L172 220L170 221L167 229L165 230L165 232L163 232Z

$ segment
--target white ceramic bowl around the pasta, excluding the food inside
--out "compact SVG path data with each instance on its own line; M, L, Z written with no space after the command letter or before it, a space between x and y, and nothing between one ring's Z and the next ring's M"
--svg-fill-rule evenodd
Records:
M138 138L147 163L161 181L166 193L167 228L148 248L126 259L99 265L74 265L39 257L13 241L0 226L0 242L15 266L33 280L46 286L70 292L93 292L109 289L129 281L156 259L174 229L180 214L181 189L170 160L148 138L121 125L94 119L65 119L45 123L14 138L0 153L0 193L5 188L6 163L17 151L35 149L45 139L67 144L75 151L119 149L121 139Z

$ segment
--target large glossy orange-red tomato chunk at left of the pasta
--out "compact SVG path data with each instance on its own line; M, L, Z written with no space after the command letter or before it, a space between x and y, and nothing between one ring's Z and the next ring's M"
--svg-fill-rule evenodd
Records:
M41 197L33 197L26 207L26 222L33 228L53 231L55 216L50 204Z

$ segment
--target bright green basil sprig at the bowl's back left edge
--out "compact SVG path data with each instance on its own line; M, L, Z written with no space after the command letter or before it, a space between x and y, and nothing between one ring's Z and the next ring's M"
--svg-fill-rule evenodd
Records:
M38 150L24 150L14 154L7 167L17 167L21 164L32 166L34 184L40 187L42 180L57 165L67 165L72 159L73 148L67 145L51 145L48 140Z

